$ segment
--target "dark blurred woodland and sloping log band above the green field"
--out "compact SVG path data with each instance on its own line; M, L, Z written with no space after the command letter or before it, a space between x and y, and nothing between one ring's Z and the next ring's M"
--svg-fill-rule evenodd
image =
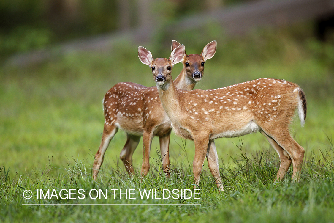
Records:
M309 30L304 35L333 42L333 4L332 0L2 1L1 59L57 44L61 51L110 50L117 44L116 38L156 43L163 48L172 37L191 42L205 37L225 40L225 35L246 34L259 27L282 28L307 22ZM40 57L50 56L47 54ZM38 59L21 60L26 61L15 62Z

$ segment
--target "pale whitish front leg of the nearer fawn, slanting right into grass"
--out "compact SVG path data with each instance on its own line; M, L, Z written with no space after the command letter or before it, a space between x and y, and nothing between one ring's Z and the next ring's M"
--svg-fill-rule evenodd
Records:
M218 164L218 155L216 150L216 145L214 141L210 140L208 149L206 152L206 159L208 160L208 166L212 176L214 177L217 187L219 190L224 191L224 187L221 183L220 174L219 174L219 164Z

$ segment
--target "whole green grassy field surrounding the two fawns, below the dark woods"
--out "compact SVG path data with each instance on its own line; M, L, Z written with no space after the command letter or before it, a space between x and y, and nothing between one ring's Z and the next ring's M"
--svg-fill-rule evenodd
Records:
M305 30L304 30L305 31ZM200 53L217 40L217 53L207 61L196 88L210 89L260 77L298 83L306 93L305 127L291 126L306 150L300 183L273 183L278 155L260 133L216 140L225 192L217 191L204 164L200 199L141 199L140 190L190 189L194 145L172 133L170 179L161 175L158 140L151 151L146 178L129 179L119 153L125 133L119 131L106 152L97 182L91 178L104 116L101 100L116 83L153 86L150 69L137 57L137 45L120 41L111 52L72 53L42 64L0 69L0 221L1 222L333 222L334 208L334 46L303 30L260 30L229 39L219 33L210 39L187 35L175 39L186 52ZM144 45L153 57L168 57L170 46ZM173 68L175 78L180 64ZM134 153L139 173L142 141ZM291 171L291 169L290 169ZM141 181L142 180L142 181ZM38 199L37 190L78 189L85 199ZM92 189L108 190L108 198L91 199ZM111 189L134 189L136 199L112 196ZM31 199L23 192L31 190ZM50 192L51 193L51 192ZM59 195L59 194L58 194ZM93 193L93 197L95 194ZM189 206L22 206L22 204L188 204ZM190 206L197 204L201 206Z

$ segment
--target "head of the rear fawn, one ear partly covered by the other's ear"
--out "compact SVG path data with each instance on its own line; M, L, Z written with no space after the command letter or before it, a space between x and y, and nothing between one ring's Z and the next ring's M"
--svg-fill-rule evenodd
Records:
M172 41L172 50L174 50L176 47L180 46L181 44L173 40ZM208 59L211 59L217 48L217 42L212 41L209 42L202 50L201 54L189 54L187 55L185 53L184 58L182 60L183 69L187 72L187 78L190 80L193 80L195 82L198 82L203 77L204 73L204 64L205 61Z

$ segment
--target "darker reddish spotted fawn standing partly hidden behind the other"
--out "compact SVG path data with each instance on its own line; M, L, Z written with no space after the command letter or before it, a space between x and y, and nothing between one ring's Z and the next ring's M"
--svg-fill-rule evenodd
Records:
M180 45L173 40L172 50ZM205 61L214 56L216 45L216 41L211 41L203 48L201 54L184 54L183 69L175 79L177 88L188 91L194 89L195 84L203 77ZM101 144L93 164L94 180L97 179L105 152L118 129L123 129L127 134L120 159L129 175L135 174L132 155L141 136L143 136L143 164L140 173L145 176L149 172L151 142L154 136L158 136L163 171L166 177L169 177L171 122L161 105L157 87L145 87L130 82L118 83L106 93L102 103L105 123Z

